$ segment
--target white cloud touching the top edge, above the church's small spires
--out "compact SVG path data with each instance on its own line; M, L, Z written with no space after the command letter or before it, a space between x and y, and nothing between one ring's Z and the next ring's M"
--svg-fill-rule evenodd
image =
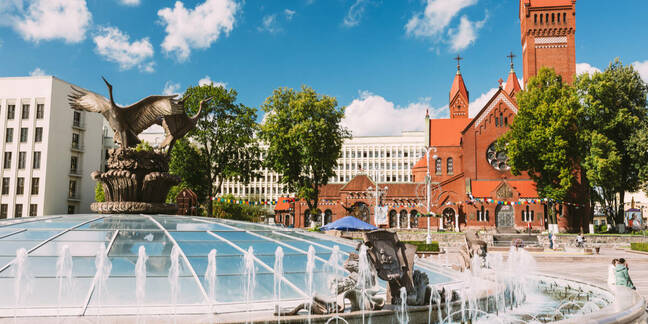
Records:
M459 11L477 0L427 0L425 11L415 14L405 25L407 34L416 37L439 37Z

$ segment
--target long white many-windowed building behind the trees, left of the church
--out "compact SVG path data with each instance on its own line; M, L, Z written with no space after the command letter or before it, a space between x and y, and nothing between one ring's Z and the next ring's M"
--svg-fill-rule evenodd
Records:
M162 142L164 134L147 131L140 135L152 146ZM262 149L266 146L262 145ZM359 173L374 177L381 182L411 182L412 167L425 153L424 132L402 132L400 136L358 136L347 139L342 145L336 175L330 183L346 183ZM263 155L262 155L263 156ZM279 184L280 175L268 169L261 170L261 178L244 185L237 181L225 181L221 195L275 200L290 193Z

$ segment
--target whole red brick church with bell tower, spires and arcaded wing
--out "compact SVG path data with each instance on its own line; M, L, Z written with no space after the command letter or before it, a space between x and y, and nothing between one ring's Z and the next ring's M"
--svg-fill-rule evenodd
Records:
M573 81L575 5L575 0L520 0L525 82L543 66L554 68L566 82ZM311 216L305 202L280 199L275 221L308 227L354 215L379 227L425 228L427 220L420 216L427 213L425 179L429 172L431 213L436 216L430 219L433 228L540 230L556 226L548 224L548 207L538 199L535 183L525 173L512 175L506 155L495 147L518 111L515 97L521 87L513 69L513 55L509 57L511 67L505 86L500 79L497 92L470 118L469 91L457 56L449 96L450 117L425 116L429 157L413 167L413 182L377 184L379 189L388 189L376 192L372 178L360 174L346 184L321 187L321 216ZM376 202L384 206L378 216L374 215ZM581 225L577 207L555 208L560 230Z

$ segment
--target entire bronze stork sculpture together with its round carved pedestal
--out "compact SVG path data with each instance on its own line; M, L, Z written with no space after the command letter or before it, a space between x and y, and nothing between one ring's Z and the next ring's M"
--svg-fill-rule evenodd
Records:
M115 103L113 88L106 79L110 100L93 92L72 87L68 100L75 110L100 113L114 131L118 147L109 151L106 172L95 171L92 178L100 181L105 202L90 208L103 214L175 213L173 204L165 203L167 193L180 179L169 173L169 156L175 141L194 127L205 104L200 102L193 117L185 113L184 100L173 96L149 96L130 106ZM137 137L150 126L164 128L165 139L153 151L136 150Z

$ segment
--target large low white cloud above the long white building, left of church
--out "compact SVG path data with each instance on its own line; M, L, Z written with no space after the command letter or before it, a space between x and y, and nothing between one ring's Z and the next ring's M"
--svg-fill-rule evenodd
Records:
M404 130L424 130L426 110L432 118L448 114L447 106L433 108L427 100L400 107L382 96L362 91L360 98L346 107L342 124L353 136L399 135Z

